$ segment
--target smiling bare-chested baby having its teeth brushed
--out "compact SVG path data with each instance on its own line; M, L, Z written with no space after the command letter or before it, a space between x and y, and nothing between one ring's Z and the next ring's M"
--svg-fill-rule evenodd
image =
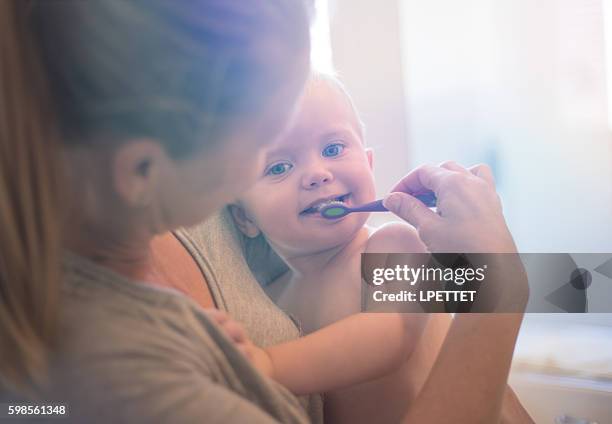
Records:
M230 206L240 231L264 237L289 267L265 289L309 334L255 362L294 393L327 391L333 421L398 422L433 361L416 368L407 361L427 315L360 313L361 253L425 252L415 229L403 222L374 229L366 213L336 220L318 213L330 201L375 200L372 156L343 86L314 75L260 179Z

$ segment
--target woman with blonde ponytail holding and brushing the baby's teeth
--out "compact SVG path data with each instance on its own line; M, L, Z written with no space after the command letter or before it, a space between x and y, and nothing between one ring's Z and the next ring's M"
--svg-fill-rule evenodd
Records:
M197 252L177 250L169 272L159 253L178 241L154 237L254 181L306 77L301 2L13 0L0 19L2 391L68 403L75 420L306 421L198 305L151 286L205 287ZM440 172L478 199L450 216L452 247L514 251L488 175L426 168L404 184ZM449 247L446 220L403 204L389 207ZM480 231L469 246L463 224ZM458 317L406 420L495 421L520 321Z

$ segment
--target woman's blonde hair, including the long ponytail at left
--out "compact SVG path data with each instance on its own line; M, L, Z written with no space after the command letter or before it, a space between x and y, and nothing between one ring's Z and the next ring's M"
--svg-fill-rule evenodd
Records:
M44 384L59 312L60 145L219 144L309 48L303 0L0 1L0 391Z

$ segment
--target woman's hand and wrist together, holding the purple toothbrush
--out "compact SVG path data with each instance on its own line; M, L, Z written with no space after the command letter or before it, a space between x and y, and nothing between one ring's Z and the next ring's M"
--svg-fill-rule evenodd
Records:
M432 253L513 253L477 255L484 260L487 284L479 293L480 310L522 312L529 286L525 269L504 220L491 169L466 169L454 162L415 169L393 188L385 206L414 225ZM433 191L437 213L407 193Z

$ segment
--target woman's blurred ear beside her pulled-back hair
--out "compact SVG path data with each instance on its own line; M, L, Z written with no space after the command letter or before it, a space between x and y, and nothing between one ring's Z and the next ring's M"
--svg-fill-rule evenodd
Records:
M131 140L119 146L113 155L112 178L121 199L132 207L152 204L168 160L163 147L153 140Z

